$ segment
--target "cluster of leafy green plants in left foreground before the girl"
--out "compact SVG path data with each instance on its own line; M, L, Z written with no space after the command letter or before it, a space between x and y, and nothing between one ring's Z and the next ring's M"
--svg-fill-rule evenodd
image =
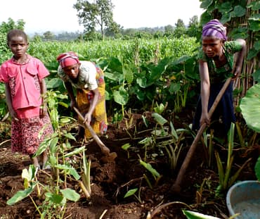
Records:
M56 129L50 137L41 142L39 149L36 151L34 156L39 156L43 151L48 150L47 164L50 165L52 174L46 173L49 177L48 184L42 184L37 180L36 170L34 170L34 167L31 166L29 170L24 170L26 174L22 177L25 178L25 191L15 194L8 204L15 204L17 201L29 196L36 187L39 194L38 196L45 197L44 201L41 203L41 206L36 206L36 204L34 204L37 211L41 215L41 218L51 218L51 215L55 215L56 218L63 218L67 200L79 200L79 194L74 191L74 189L67 187L68 180L77 181L80 186L84 185L84 187L81 187L82 191L85 195L87 194L87 191L90 196L91 162L86 161L84 146L73 149L70 144L70 141L75 141L75 138L70 132L67 132L67 128L64 127L68 127L73 119L68 117L60 118L58 112L55 111L54 108L59 103L59 95L56 95L56 92L47 92L47 94L51 94L48 96L48 106L51 106L49 111L52 121L54 120L56 124ZM63 98L64 96L60 97ZM76 167L79 161L77 156L82 153L83 170L81 176L77 173ZM82 181L80 181L81 177ZM86 189L84 190L84 188ZM86 198L89 198L89 196L86 196ZM35 201L33 202L35 203Z

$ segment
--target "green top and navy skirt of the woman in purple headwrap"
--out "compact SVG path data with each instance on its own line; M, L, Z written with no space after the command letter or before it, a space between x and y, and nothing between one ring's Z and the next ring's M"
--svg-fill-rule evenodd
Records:
M208 111L212 107L216 96L219 94L223 84L225 83L228 77L232 77L233 69L233 55L240 51L242 46L239 42L230 41L223 44L224 55L227 58L227 63L220 68L216 68L216 65L212 58L207 57L206 54L200 49L198 53L198 59L202 61L207 61L209 68L209 78L210 78L210 93L209 93L209 104ZM202 104L201 96L197 102L197 108L195 112L195 117L193 120L193 130L200 129L200 117L202 114ZM221 118L223 124L223 132L228 133L230 129L231 122L235 123L235 114L233 106L233 82L230 82L230 85L226 89L226 92L223 94L221 100L219 101L218 106L216 107L213 115L212 122L214 120L219 120Z

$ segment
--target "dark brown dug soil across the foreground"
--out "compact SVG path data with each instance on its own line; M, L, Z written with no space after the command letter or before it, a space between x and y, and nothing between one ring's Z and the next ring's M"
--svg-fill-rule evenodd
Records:
M149 113L148 113L149 114ZM150 118L150 127L155 127ZM178 115L174 120L175 127L183 127L189 124L190 113ZM130 120L131 123L130 123ZM128 123L126 123L126 121ZM128 124L128 125L126 125ZM130 125L129 125L130 124ZM126 128L127 127L127 128ZM200 213L214 215L219 218L228 218L226 208L226 193L222 196L215 196L218 186L219 176L216 163L207 167L204 146L199 143L189 168L183 180L181 194L171 194L171 185L175 182L178 169L186 156L190 144L193 142L189 134L185 137L186 144L183 146L176 170L169 168L167 154L152 158L152 154L159 154L158 148L148 149L146 163L150 163L162 177L160 180L153 179L152 175L145 170L139 162L139 157L143 159L145 151L138 142L150 134L150 127L143 125L143 119L139 114L132 114L131 118L126 118L115 125L109 125L107 137L100 137L102 142L108 146L111 152L117 153L115 161L103 162L103 155L96 142L86 145L86 154L91 158L91 199L86 199L79 189L79 184L69 181L67 187L75 189L81 198L76 203L69 202L63 218L106 218L106 219L138 219L138 218L186 218L182 210L199 211ZM135 131L137 130L137 131ZM22 169L28 168L30 159L28 156L13 154L11 152L10 127L1 123L1 144L0 144L0 218L39 218L37 211L29 197L18 202L14 206L8 206L6 201L16 192L24 189L21 178ZM127 151L122 149L122 145L130 143L132 146ZM80 142L72 142L74 146L81 146ZM219 144L214 145L214 149L219 151L223 161L227 154L226 148ZM252 180L254 176L254 161L259 156L259 146L250 149L238 149L234 151L235 162L233 171L235 172L251 157L252 161L242 170L238 180ZM38 178L41 182L48 182L48 174L44 170L39 170ZM144 174L152 182L152 188L145 181ZM135 196L124 199L129 189L138 188L140 200ZM138 192L136 193L138 196ZM37 204L41 200L36 194L32 198ZM167 206L167 204L169 205ZM53 215L53 218L56 218Z

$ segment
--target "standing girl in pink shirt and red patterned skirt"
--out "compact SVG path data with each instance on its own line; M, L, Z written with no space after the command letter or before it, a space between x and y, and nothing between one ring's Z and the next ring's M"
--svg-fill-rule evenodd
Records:
M7 35L7 44L13 57L1 65L0 82L5 82L6 103L12 118L11 149L32 158L40 142L53 133L41 96L46 92L44 77L49 73L39 59L26 53L29 43L25 32L11 30ZM43 127L43 134L39 137ZM44 151L39 158L32 158L32 162L39 167L41 161L44 168L47 158Z

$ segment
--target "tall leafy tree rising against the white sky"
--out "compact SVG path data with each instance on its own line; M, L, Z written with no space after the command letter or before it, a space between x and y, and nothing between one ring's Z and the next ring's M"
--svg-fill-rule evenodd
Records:
M77 9L79 24L84 25L86 33L95 32L96 26L100 27L101 35L104 39L105 28L115 33L118 32L119 25L113 20L112 9L114 8L111 0L96 0L94 3L89 1L77 0L74 4Z

